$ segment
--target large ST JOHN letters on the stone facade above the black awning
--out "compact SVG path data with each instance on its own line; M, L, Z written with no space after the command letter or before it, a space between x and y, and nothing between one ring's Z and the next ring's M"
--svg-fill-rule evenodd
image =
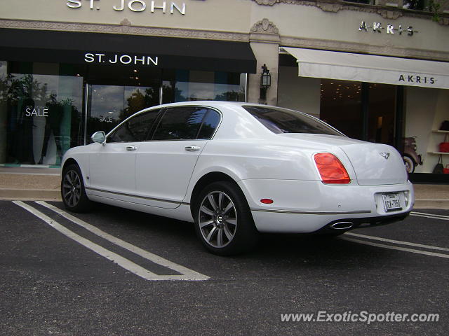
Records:
M121 11L131 10L133 12L143 12L145 10L150 13L154 13L156 10L161 13L170 14L180 13L185 15L185 3L175 3L175 1L149 1L149 0L114 0L116 3L112 6L113 10ZM67 0L67 7L69 8L81 8L83 3L88 4L89 8L93 10L100 10L100 0Z

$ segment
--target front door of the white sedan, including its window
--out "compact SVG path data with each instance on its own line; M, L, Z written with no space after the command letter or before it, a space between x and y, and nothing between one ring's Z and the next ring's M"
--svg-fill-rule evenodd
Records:
M160 110L139 113L109 134L105 144L93 144L89 154L89 193L115 200L135 195L135 158ZM99 194L100 193L100 194Z

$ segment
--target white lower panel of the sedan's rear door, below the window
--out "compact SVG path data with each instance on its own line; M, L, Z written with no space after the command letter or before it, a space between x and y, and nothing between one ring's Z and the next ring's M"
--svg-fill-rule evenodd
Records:
M142 204L169 209L179 207L187 192L196 160L206 143L206 140L142 142L135 160L135 193L153 199L142 200ZM186 151L187 146L198 146L200 149Z

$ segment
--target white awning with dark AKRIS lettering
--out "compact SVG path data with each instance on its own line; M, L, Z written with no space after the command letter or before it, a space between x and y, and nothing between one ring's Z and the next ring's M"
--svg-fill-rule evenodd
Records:
M300 77L449 89L449 62L302 48L283 50L297 59Z

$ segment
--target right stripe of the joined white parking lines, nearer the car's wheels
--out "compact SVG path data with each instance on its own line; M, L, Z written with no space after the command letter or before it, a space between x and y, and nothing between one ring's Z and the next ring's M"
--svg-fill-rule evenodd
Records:
M145 251L144 249L135 246L133 244L129 244L126 241L123 241L117 237L114 237L112 235L109 235L107 232L104 232L98 228L96 228L95 226L86 223L85 221L81 221L81 219L76 218L75 216L72 216L71 214L68 214L67 212L54 207L51 204L48 204L46 202L36 202L37 204L41 204L43 207L46 207L48 209L51 209L53 211L55 211L55 213L60 214L62 217L67 218L69 221L72 221L73 223L75 223L76 225L81 226L81 228L85 228L86 230L92 232L93 234L97 235L98 237L102 237L103 239L106 239L108 241L111 241L113 244L116 244L117 246L126 248L126 250L131 251L137 255L140 255L142 258L145 258L149 261L152 261L158 265L161 265L163 267L167 267L169 269L173 269L173 271L181 273L182 276L178 276L178 275L170 275L170 277L172 277L172 280L207 280L209 279L208 276L195 272L192 269L189 269L187 267L184 267L182 265L178 265L175 262L171 262L170 260L167 260L165 258L160 257L159 255L156 255L154 253Z

